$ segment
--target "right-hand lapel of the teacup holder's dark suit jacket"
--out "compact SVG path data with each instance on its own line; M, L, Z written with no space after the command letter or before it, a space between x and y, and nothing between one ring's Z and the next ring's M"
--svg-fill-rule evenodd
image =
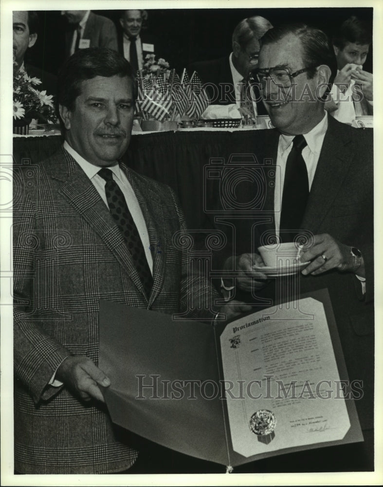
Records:
M347 175L353 158L351 142L349 132L344 130L343 124L328 116L328 130L301 225L314 234L326 217Z

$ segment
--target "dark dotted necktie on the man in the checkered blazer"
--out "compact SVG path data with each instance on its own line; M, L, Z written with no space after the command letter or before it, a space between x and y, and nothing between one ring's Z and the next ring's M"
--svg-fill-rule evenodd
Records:
M134 266L143 283L146 297L149 297L153 285L153 277L146 260L144 246L128 209L124 194L114 181L113 173L110 169L102 168L98 171L98 174L106 181L105 194L107 196L110 214L125 238L125 242L133 258Z

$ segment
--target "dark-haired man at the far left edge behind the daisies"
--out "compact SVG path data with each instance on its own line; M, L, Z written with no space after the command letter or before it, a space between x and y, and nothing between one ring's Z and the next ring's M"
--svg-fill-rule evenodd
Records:
M27 49L36 44L38 25L36 11L16 10L13 12L13 54L19 70L25 71L31 78L36 77L41 81L41 84L36 86L38 91L45 90L46 94L55 95L56 76L24 61Z

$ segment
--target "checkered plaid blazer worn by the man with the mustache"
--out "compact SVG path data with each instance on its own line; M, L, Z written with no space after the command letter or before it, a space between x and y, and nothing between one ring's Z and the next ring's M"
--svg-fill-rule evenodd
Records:
M122 166L123 167L123 166ZM147 300L123 236L91 181L65 151L14 173L15 468L23 473L111 473L137 452L115 436L104 405L48 385L64 357L98 363L99 300L168 314L190 295L211 302L207 281L187 275L173 191L123 167L142 208L153 257ZM161 253L158 253L161 250Z

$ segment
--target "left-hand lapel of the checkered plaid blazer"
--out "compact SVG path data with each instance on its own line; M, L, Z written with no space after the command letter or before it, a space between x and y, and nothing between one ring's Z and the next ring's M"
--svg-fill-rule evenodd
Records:
M58 164L51 166L52 177L63 182L59 192L104 241L120 265L126 269L137 288L145 296L144 287L124 237L114 223L108 207L72 156L65 150L63 152L63 158L57 159Z

